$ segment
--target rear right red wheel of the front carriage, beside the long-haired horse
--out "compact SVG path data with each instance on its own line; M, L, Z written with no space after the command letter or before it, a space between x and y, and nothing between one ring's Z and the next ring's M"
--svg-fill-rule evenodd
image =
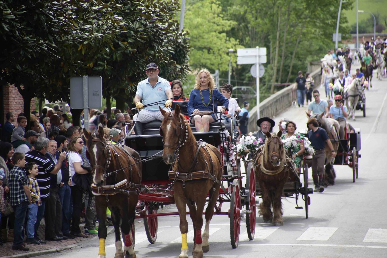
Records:
M246 210L250 213L246 214L246 228L248 239L253 240L255 235L255 220L257 216L257 204L255 198L257 196L257 188L255 186L255 171L252 162L247 166L246 190L248 190L248 202Z

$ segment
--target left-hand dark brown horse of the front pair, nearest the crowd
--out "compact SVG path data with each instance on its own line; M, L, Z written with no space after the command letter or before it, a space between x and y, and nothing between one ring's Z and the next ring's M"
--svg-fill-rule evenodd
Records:
M127 146L118 146L104 139L103 128L98 128L94 137L86 129L83 133L87 139L87 156L94 174L91 185L96 195L96 212L99 220L98 258L105 258L106 208L111 210L115 234L115 258L135 258L134 253L134 217L139 199L139 188L142 178L140 155ZM121 232L124 243L122 251Z

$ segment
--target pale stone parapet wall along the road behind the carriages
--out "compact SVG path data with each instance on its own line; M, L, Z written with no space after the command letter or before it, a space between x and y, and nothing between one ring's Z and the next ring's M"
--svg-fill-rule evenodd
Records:
M320 68L316 69L314 72L312 72L310 75L312 76L314 80L315 88L320 86L321 81L321 75L320 75ZM281 113L284 109L289 108L291 106L291 103L293 99L296 98L296 91L294 92L293 97L293 86L289 85L285 89L282 89L281 91L278 91L274 93L272 96L268 97L264 101L262 101L259 104L259 117L274 117L277 114ZM250 112L250 118L248 120L248 127L247 132L255 132L258 130L257 126L257 107L255 106Z

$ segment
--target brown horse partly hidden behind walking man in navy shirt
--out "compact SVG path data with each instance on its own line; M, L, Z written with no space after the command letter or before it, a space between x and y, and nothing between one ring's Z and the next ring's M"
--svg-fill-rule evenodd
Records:
M340 125L339 122L334 120L333 118L324 118L324 113L321 114L313 114L310 115L307 113L307 117L311 118L314 117L317 120L317 123L319 123L320 127L323 128L325 131L327 131L328 137L330 141L332 142L333 149L337 152L339 149L339 131L340 131ZM329 146L325 144L325 176L324 176L324 182L325 185L334 185L335 184L335 178L336 178L336 172L333 168L333 163L335 161L335 158L332 155L332 151L329 149Z

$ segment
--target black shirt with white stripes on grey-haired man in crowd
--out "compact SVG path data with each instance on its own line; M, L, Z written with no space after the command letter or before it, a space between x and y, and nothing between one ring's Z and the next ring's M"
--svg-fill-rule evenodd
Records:
M39 172L36 176L36 181L38 181L39 185L40 198L47 198L50 196L50 172L54 169L53 164L38 150L27 152L26 162L35 162L38 164Z

